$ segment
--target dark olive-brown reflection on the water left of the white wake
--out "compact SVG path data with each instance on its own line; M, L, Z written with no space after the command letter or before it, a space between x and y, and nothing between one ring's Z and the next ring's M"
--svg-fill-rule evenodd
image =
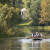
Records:
M18 48L20 47L20 48ZM20 50L21 49L21 45L18 41L18 39L16 38L12 38L12 39L1 39L0 40L0 50Z

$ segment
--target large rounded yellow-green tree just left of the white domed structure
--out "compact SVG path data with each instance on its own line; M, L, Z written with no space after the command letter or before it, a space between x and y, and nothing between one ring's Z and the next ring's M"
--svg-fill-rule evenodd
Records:
M8 7L7 4L3 5L2 9L2 17L6 20L8 26L13 26L21 21L21 16L19 15L20 9L14 7Z

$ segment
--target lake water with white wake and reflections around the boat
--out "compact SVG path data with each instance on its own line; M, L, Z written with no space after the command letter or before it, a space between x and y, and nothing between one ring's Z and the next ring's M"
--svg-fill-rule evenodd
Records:
M37 32L37 30L24 30L26 36L31 36L31 33ZM47 39L32 40L26 39L26 37L11 37L0 38L0 50L50 50L50 31L40 30Z

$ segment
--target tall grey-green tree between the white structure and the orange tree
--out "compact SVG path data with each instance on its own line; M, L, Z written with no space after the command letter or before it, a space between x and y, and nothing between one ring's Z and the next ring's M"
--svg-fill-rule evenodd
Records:
M40 17L40 0L31 0L30 5L30 16L33 19L33 25L39 25L39 17Z

